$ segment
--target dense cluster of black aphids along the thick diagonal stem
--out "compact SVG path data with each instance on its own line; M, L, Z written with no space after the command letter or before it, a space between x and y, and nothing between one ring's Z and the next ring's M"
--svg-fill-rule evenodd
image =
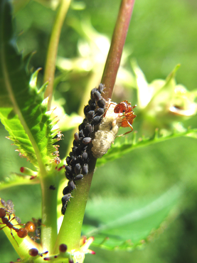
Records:
M74 134L72 152L66 157L66 178L68 185L63 190L62 214L65 214L67 203L70 200L71 192L76 188L76 181L83 179L88 174L88 160L91 152L93 131L100 124L105 112L106 102L101 97L104 86L100 84L98 89L91 90L91 99L84 107L85 119L79 125L79 132ZM97 128L98 129L98 128Z

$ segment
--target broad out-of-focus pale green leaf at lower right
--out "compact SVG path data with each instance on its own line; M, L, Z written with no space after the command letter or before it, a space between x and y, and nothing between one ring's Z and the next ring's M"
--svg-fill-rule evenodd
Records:
M173 186L154 200L89 200L82 233L93 236L93 245L105 249L132 249L148 240L160 227L181 196L181 187ZM145 201L146 200L146 201ZM88 222L89 224L86 224Z

